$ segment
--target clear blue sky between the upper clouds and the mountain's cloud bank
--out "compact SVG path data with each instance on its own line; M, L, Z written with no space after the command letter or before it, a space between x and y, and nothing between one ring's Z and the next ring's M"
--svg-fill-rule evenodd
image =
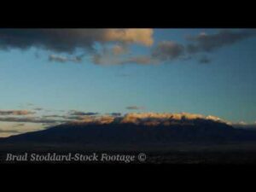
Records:
M154 44L129 44L127 55L149 55L162 41L185 46L189 36L219 31L154 29ZM0 109L27 110L34 108L28 104L32 103L45 110L129 113L127 107L137 106L141 109L135 112L212 114L247 123L256 120L256 36L201 51L189 59L157 64L102 65L91 61L90 51L79 62L49 61L51 54L72 57L82 52L79 49L70 55L36 45L0 49ZM209 62L201 63L201 57Z

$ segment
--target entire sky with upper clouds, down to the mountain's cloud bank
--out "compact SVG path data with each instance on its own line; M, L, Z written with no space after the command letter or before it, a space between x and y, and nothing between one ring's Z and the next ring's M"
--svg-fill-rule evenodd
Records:
M81 29L56 32L52 44L47 32L27 31L0 29L0 114L186 112L256 121L254 29L108 29L86 37ZM0 137L42 125L3 120Z

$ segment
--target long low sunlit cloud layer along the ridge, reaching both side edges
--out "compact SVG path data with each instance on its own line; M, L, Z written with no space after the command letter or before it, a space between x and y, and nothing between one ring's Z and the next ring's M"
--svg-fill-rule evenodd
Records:
M133 108L133 107L132 107ZM50 116L49 116L50 117ZM63 115L52 116L54 119L47 118L15 118L15 117L0 117L0 121L5 122L19 122L19 123L36 123L44 125L58 125L58 124L135 124L135 125L178 125L189 123L193 124L196 119L211 120L219 123L224 123L227 125L232 125L239 128L256 128L255 124L245 124L245 123L231 123L224 119L220 119L212 115L202 115L197 113L126 113L121 115L121 113L109 113L105 115ZM0 131L1 132L1 131Z

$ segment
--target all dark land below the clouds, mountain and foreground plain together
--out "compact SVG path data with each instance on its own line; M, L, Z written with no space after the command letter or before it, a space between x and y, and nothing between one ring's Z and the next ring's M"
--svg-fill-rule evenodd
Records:
M195 119L172 126L58 125L0 139L1 163L7 154L134 155L130 163L256 164L256 131ZM143 159L139 155L143 154ZM146 156L146 158L145 158ZM43 163L125 163L120 160L43 161Z

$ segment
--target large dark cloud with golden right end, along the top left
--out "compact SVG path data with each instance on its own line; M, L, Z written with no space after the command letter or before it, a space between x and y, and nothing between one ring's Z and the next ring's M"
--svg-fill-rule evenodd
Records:
M93 49L94 44L154 43L153 29L1 29L0 49L36 47L72 53L76 49Z

